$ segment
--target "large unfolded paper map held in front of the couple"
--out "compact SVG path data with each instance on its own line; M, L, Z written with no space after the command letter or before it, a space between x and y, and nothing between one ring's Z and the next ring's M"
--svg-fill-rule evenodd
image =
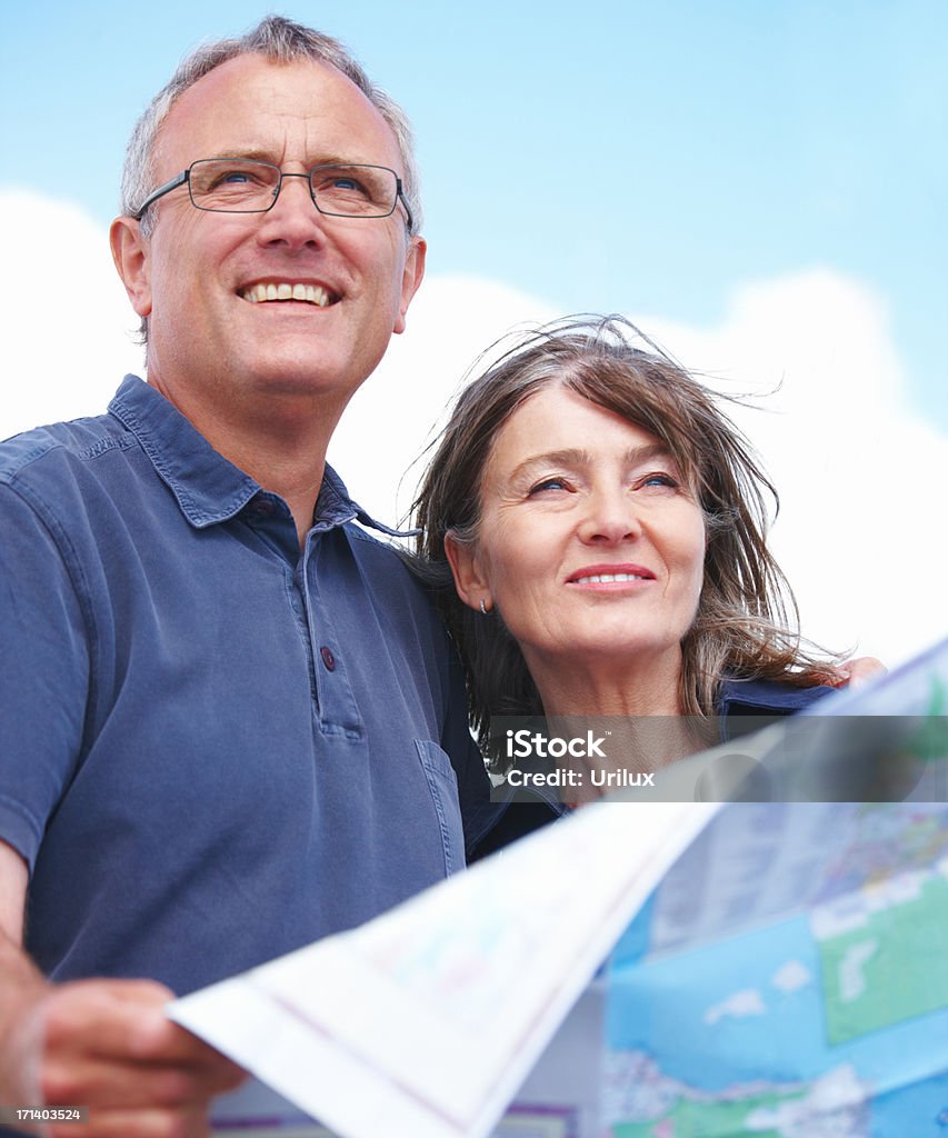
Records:
M219 1129L948 1132L946 692L948 643L741 739L790 800L694 801L735 744L717 748L676 765L683 800L584 807L176 1000L176 1022L282 1096L222 1103ZM866 769L896 756L882 782L901 800L813 797L854 748Z

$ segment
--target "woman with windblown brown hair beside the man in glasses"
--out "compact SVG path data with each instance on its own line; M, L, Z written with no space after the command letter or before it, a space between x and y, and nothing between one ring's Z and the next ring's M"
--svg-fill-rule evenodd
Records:
M481 745L492 716L707 723L844 682L790 628L776 493L719 403L615 316L543 329L464 389L415 514Z

